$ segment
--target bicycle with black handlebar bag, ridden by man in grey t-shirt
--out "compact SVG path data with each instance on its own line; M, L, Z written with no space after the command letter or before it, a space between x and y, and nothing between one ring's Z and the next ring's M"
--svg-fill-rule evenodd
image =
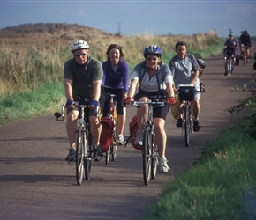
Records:
M190 143L190 134L193 127L193 106L195 92L205 92L204 84L200 83L200 91L196 91L192 84L180 84L178 89L178 99L183 101L182 134L184 134L184 143L188 147Z

